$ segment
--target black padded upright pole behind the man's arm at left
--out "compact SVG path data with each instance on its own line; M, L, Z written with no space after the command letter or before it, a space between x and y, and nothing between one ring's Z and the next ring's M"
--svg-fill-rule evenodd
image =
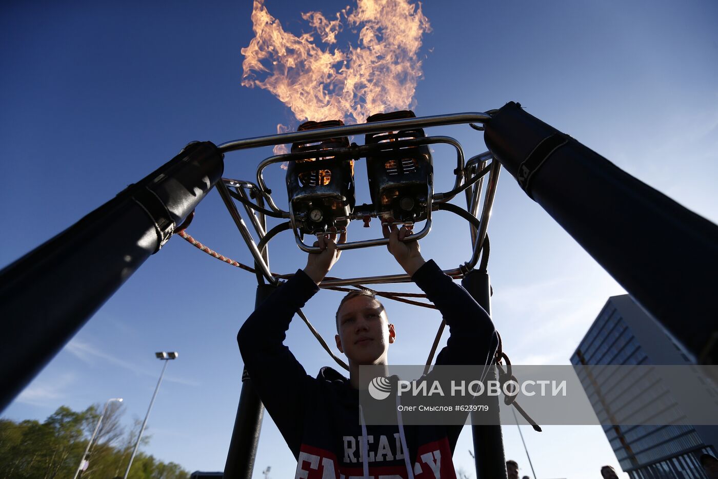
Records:
M254 307L262 304L275 289L275 286L268 284L258 285ZM262 428L262 416L264 416L264 405L252 385L247 370L243 370L242 392L239 395L237 417L227 452L224 479L251 479Z

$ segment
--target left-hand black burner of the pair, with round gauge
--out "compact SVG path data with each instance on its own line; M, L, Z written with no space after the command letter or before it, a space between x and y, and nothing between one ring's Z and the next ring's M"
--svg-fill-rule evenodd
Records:
M304 122L297 131L339 127L341 120ZM345 231L354 209L354 160L332 155L335 148L349 147L348 137L322 142L297 142L289 161L286 192L294 226L302 234Z

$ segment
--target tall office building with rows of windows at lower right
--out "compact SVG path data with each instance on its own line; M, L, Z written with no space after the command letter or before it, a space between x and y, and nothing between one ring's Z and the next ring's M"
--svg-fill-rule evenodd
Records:
M668 333L628 295L612 296L571 357L574 365L682 365L689 357ZM660 378L650 394L638 393L630 381L579 370L579 379L602 423L627 409L655 407L681 416ZM621 468L631 479L707 478L699 457L716 456L718 426L603 426Z

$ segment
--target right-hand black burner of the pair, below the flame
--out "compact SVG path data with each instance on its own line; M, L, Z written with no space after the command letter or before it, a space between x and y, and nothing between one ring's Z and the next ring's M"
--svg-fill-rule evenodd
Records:
M367 123L415 117L413 111L393 111L374 114ZM393 218L393 222L411 227L427 217L432 191L431 152L427 145L401 146L401 140L424 137L421 128L365 136L365 145L381 145L380 150L367 155L366 168L371 201L382 222Z

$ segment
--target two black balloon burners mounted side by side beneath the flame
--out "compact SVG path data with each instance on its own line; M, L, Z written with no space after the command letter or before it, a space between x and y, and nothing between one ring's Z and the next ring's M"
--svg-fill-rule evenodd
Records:
M415 118L413 111L372 115L367 123ZM341 120L306 122L299 131L339 127ZM286 170L294 226L301 234L343 231L352 219L372 217L413 227L429 217L432 156L421 128L365 135L364 146L348 137L295 142ZM417 141L419 140L419 141ZM354 162L366 158L371 204L355 206Z

